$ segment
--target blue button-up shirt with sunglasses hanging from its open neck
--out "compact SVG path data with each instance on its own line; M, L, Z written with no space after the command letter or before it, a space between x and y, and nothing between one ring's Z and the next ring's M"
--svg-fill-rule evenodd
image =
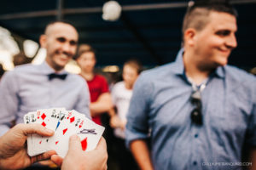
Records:
M183 49L175 62L144 71L131 98L126 144L148 138L151 129L156 170L240 169L235 165L243 143L256 145L256 78L236 67L218 67L201 92L201 127L190 119L192 91Z

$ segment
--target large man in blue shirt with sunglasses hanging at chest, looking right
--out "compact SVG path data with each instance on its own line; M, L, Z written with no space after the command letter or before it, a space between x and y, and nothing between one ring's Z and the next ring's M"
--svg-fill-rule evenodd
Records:
M244 144L256 169L256 78L227 65L236 31L229 3L196 1L175 62L138 77L125 139L141 169L241 169Z

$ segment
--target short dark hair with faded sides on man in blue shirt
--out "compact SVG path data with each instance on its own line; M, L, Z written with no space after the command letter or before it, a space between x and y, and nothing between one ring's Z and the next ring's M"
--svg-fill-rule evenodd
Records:
M191 4L191 3L190 3ZM183 19L183 36L188 28L194 28L201 31L209 22L208 16L210 12L222 12L237 17L236 9L233 8L228 1L220 0L198 0L192 3L187 9Z

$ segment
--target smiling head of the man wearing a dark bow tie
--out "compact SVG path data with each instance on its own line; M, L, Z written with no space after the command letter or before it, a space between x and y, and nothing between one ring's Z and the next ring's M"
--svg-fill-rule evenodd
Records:
M46 48L46 62L55 71L61 71L76 53L79 33L67 22L55 21L46 26L40 45Z

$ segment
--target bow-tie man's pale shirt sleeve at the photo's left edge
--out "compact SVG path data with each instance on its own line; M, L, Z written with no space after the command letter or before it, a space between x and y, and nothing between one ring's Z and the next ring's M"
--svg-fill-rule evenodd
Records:
M19 109L18 82L14 71L8 71L0 82L0 136L10 128Z

